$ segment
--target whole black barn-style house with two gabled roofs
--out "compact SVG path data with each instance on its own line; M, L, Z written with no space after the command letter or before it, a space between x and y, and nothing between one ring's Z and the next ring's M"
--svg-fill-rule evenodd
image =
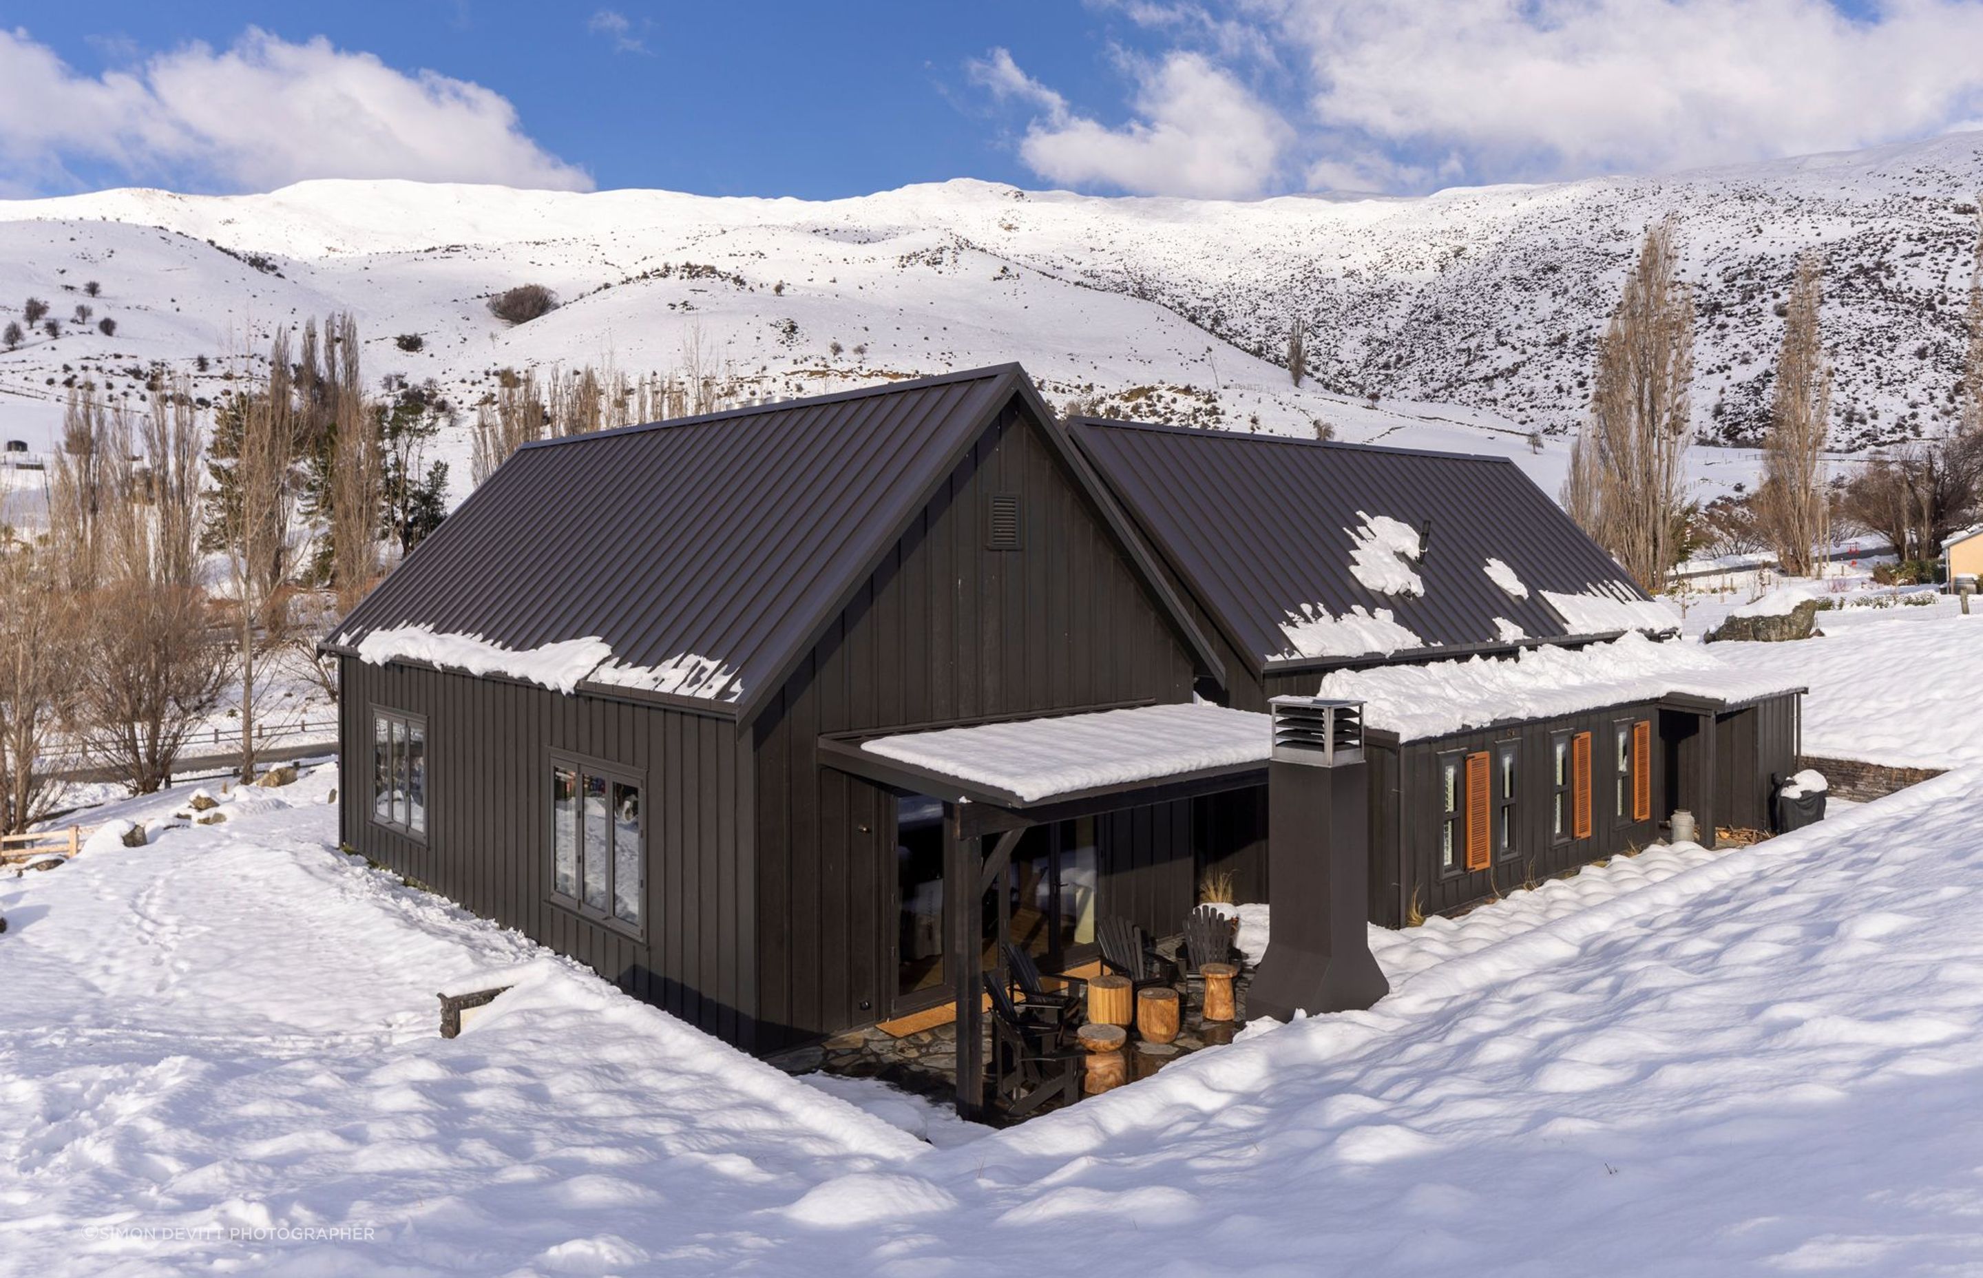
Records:
M1269 899L1271 697L1465 681L1456 657L1654 607L1505 460L1063 425L980 369L522 448L325 643L339 820L775 1052L976 1008L999 939L1065 968L1107 917L1174 933L1208 875ZM1370 919L1650 843L1674 808L1767 824L1795 695L1690 689L1434 738L1380 695Z

